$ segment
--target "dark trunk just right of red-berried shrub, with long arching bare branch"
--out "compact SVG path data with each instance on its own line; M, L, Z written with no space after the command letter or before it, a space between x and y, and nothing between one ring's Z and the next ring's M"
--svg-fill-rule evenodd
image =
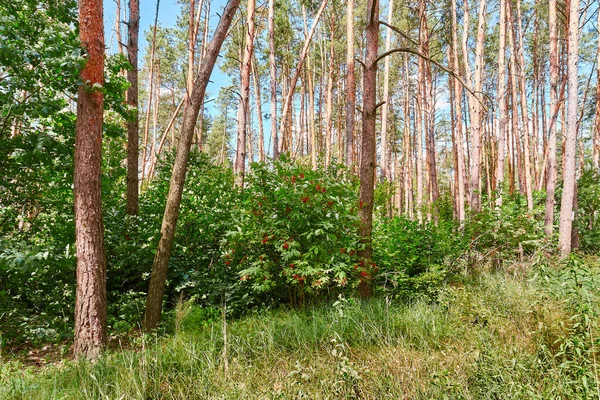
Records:
M377 50L379 46L379 0L369 0L367 7L367 43L363 73L362 156L360 158L359 234L365 248L359 256L365 261L365 271L358 285L363 298L373 295L373 269L370 267L373 233L373 193L375 189L375 145L377 141Z

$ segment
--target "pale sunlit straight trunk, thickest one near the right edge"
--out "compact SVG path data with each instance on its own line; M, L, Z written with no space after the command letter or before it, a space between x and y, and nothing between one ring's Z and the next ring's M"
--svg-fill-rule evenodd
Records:
M560 226L558 245L561 257L571 253L573 228L573 199L576 182L576 151L577 151L577 89L578 73L577 58L579 56L579 0L571 0L569 11L569 50L568 50L568 79L569 103L567 109L567 129L565 137L563 193L560 202Z

